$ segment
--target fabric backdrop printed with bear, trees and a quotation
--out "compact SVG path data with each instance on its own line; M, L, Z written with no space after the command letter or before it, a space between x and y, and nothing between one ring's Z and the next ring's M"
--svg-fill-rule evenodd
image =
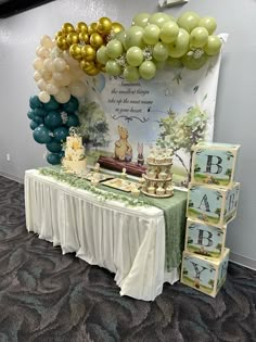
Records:
M221 53L196 71L167 64L150 81L128 83L106 74L86 77L79 118L87 128L88 155L141 166L155 145L172 148L174 181L187 186L191 147L213 141L220 61Z

